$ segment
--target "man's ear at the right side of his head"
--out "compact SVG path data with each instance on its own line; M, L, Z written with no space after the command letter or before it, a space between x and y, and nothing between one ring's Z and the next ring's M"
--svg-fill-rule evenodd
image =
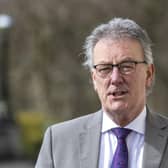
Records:
M150 64L147 67L147 76L146 76L146 87L147 88L149 88L152 85L154 78L155 78L155 67L153 64Z

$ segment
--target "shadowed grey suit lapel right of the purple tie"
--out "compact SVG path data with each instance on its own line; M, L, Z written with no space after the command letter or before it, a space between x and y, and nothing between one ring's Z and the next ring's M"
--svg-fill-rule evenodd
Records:
M167 123L158 115L147 113L143 168L159 168L167 142Z

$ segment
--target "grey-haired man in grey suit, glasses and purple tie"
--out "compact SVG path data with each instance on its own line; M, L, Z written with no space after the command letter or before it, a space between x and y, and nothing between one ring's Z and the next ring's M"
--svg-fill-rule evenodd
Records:
M147 33L114 18L84 48L102 108L49 127L36 168L168 168L168 120L146 106L154 81Z

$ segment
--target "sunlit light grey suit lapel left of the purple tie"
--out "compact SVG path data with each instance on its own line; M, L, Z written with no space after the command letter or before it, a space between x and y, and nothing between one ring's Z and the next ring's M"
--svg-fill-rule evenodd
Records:
M101 112L96 113L96 115L88 121L86 130L79 136L80 168L98 167L101 116Z

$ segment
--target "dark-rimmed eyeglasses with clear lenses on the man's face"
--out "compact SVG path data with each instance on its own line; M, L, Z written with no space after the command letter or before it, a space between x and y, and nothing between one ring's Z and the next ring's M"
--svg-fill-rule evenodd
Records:
M117 67L122 75L129 75L135 71L137 64L147 64L146 61L123 61L118 64L97 64L93 67L96 69L98 76L105 78L111 75L113 68Z

